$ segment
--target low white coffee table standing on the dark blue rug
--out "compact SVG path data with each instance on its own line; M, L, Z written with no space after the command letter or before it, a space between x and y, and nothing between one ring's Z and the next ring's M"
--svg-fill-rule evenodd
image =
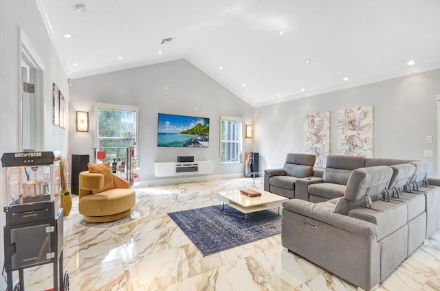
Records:
M248 220L248 213L272 209L278 207L278 214L280 214L280 207L284 201L289 200L283 196L272 194L261 189L254 189L261 192L259 197L248 197L240 194L240 190L219 191L216 193L216 198L219 199L225 208L225 204L235 208L241 213L245 214L245 221Z

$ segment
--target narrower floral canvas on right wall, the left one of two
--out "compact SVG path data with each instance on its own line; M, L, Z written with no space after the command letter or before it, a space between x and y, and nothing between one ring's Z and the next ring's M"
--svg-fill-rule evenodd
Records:
M305 115L304 151L315 154L315 167L325 167L330 154L330 111Z

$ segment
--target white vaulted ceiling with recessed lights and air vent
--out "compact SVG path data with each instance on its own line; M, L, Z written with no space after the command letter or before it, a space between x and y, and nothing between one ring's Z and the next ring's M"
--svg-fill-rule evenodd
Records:
M185 58L264 106L440 69L439 0L36 3L72 79Z

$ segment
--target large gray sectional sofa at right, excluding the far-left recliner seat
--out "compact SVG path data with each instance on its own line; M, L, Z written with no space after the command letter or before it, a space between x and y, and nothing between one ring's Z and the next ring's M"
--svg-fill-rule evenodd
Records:
M297 179L300 199L283 203L283 247L371 290L439 229L440 181L428 183L428 161L329 156L327 165Z

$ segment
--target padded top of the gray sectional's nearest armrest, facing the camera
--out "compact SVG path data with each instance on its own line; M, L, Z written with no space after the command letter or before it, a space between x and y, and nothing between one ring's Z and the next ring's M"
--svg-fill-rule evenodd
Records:
M343 216L342 214L335 213L326 207L322 207L322 205L312 202L292 199L283 202L283 211L292 211L362 237L377 236L377 226L375 224L358 218Z

